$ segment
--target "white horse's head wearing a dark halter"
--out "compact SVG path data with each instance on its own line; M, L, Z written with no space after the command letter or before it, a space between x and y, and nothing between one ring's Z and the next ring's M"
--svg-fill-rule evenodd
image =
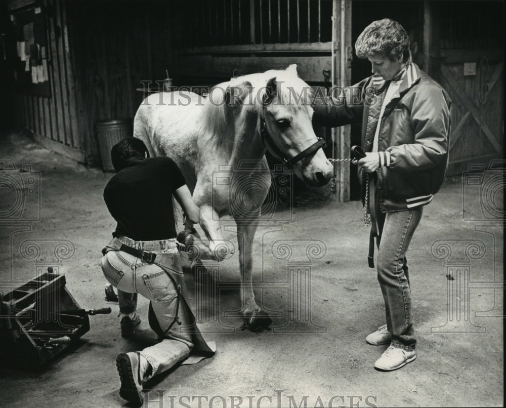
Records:
M263 141L304 182L324 186L332 177L333 168L321 148L324 142L316 137L311 123L312 89L299 78L294 64L284 71L266 72L271 73L276 76L267 80L259 95Z

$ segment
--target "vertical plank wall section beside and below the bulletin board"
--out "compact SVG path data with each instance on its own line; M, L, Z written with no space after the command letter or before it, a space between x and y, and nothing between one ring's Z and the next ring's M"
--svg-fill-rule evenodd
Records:
M11 2L12 7L16 7L16 3L19 2ZM43 0L39 5L47 16L51 96L17 94L14 88L12 98L16 121L32 131L41 144L84 162L84 143L78 129L74 76L66 30L66 3Z

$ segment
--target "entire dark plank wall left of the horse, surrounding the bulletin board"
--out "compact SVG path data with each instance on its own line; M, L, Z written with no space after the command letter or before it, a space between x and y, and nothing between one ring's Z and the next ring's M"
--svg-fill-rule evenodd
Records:
M171 5L138 0L10 0L9 8L33 5L47 15L51 95L22 94L8 77L12 89L6 98L13 101L15 122L52 150L100 167L97 121L133 119L145 96L138 90L141 81L156 85L154 81L165 78L165 70L175 70ZM9 69L4 75L2 68L2 75L8 76Z

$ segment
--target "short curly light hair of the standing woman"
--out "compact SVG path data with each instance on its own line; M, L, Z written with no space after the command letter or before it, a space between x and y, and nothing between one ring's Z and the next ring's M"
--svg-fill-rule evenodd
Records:
M397 21L389 18L376 20L365 27L355 43L355 52L359 58L382 55L391 61L402 57L403 63L411 60L409 36Z

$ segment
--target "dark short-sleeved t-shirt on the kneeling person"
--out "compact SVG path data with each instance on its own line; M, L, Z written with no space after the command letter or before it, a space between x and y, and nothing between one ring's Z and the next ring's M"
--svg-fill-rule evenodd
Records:
M104 200L118 223L114 236L136 241L175 238L172 194L185 179L168 157L130 158L107 183Z

